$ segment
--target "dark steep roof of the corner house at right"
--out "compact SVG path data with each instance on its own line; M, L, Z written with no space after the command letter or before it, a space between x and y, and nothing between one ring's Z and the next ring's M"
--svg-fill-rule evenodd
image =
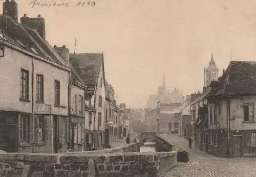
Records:
M210 96L256 95L256 62L231 61Z

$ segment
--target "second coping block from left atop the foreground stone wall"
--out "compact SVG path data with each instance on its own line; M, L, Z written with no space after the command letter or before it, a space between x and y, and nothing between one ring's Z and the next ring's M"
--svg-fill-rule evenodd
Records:
M58 159L58 155L56 154L27 154L25 155L26 162L52 162L56 163Z

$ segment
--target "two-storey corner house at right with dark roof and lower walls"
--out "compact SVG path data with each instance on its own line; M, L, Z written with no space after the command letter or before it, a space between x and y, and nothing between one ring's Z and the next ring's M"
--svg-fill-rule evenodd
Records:
M201 150L221 157L256 155L255 69L256 62L231 61L218 81L211 82Z

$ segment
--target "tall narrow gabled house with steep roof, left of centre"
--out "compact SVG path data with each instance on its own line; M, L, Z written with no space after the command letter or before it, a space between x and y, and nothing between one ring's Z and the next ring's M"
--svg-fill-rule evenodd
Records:
M70 54L70 62L89 90L89 131L86 141L91 148L103 148L105 143L105 74L103 54ZM86 117L87 119L87 117Z

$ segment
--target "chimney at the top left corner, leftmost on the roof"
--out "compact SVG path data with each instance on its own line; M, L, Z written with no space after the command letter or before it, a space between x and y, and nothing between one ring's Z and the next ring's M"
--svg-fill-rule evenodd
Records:
M14 0L5 0L3 3L3 14L10 16L16 23L18 22L18 5Z

